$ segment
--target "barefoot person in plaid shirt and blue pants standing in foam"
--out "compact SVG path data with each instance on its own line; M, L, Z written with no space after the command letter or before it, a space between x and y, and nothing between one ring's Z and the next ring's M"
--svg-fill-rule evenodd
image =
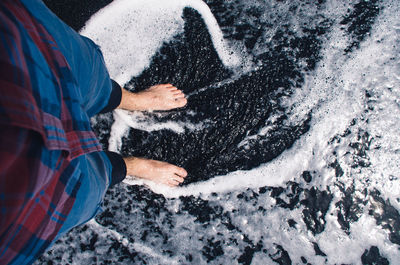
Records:
M183 168L102 151L89 118L114 108L186 105L170 84L131 93L100 49L40 0L0 2L0 264L31 264L93 218L106 190L133 175L176 186Z

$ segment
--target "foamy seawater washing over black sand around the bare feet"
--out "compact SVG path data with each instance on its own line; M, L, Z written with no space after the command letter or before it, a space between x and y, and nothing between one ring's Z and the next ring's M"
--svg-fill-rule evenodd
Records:
M37 264L400 264L399 11L365 0L101 9L81 33L111 76L132 90L173 83L188 105L101 115L95 131L105 148L189 176L177 189L114 187Z

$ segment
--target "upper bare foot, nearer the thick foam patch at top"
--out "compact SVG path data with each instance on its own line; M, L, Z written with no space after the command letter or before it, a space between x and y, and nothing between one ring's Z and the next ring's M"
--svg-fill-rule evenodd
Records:
M118 106L126 110L171 110L187 104L183 92L171 84L151 86L140 92L122 89L122 99Z

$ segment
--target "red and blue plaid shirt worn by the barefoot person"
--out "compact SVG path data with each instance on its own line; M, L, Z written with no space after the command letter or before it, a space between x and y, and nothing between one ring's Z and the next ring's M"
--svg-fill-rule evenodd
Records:
M0 264L30 264L74 204L74 158L101 146L66 58L17 0L0 2L0 95Z

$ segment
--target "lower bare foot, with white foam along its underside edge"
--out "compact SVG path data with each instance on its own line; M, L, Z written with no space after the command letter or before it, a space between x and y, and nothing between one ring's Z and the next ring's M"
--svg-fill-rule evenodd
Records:
M178 186L187 176L185 169L166 162L137 157L127 157L124 161L128 175L171 187Z

